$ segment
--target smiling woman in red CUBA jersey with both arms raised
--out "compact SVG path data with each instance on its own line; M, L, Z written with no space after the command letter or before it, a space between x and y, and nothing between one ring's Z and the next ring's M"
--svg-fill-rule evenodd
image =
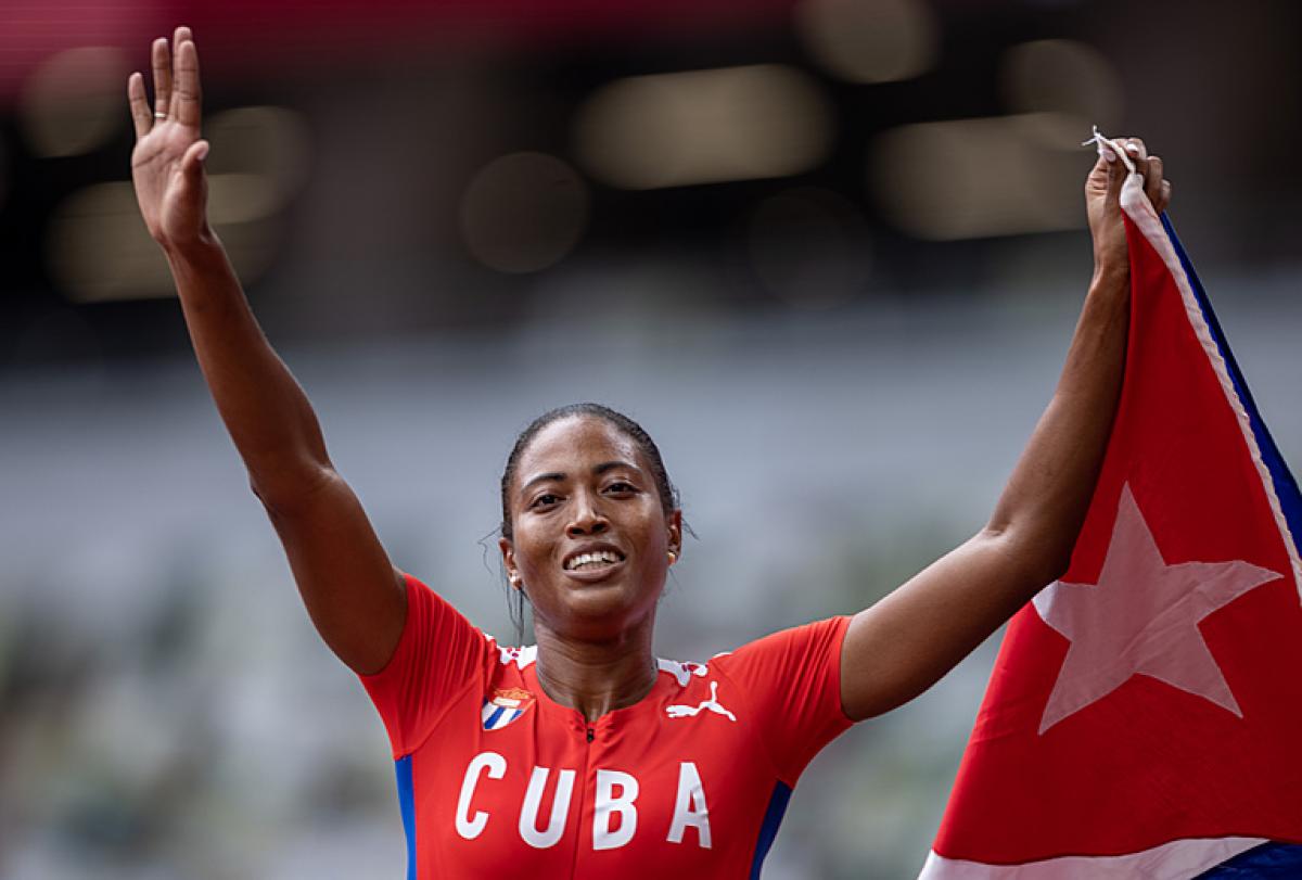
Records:
M1125 359L1111 151L1086 181L1095 272L1066 366L990 523L853 617L678 664L651 646L682 516L655 444L604 407L542 417L503 475L501 555L536 647L499 647L389 562L207 225L187 29L155 42L152 68L152 109L141 74L128 86L141 211L312 622L384 719L409 876L758 876L822 746L921 694L1066 569ZM1164 210L1161 160L1125 148Z

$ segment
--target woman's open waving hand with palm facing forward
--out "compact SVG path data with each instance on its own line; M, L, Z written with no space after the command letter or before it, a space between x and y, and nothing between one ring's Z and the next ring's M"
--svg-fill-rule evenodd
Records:
M145 77L133 73L126 81L135 122L132 181L150 236L171 250L211 236L203 174L208 142L199 138L199 52L190 29L177 27L171 48L165 38L154 40L151 62L152 111Z

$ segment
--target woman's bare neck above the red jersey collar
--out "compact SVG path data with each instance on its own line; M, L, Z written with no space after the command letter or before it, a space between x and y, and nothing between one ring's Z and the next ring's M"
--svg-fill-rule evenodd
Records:
M538 683L561 706L595 721L633 706L655 686L651 626L635 626L611 640L587 642L560 635L535 622Z

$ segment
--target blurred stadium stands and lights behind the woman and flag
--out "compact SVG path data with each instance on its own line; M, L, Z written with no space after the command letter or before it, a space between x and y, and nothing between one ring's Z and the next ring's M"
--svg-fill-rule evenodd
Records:
M1302 462L1286 0L5 0L3 877L404 871L379 719L134 204L125 77L182 22L255 311L395 561L500 638L500 467L564 402L641 419L682 489L663 656L857 611L978 529L1088 281L1095 122L1167 159ZM766 877L914 876L993 651L828 749Z

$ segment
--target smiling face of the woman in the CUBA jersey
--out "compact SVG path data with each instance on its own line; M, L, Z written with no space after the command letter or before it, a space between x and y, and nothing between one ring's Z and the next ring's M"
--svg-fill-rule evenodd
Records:
M506 573L539 626L611 639L655 617L682 516L668 516L638 445L602 418L572 417L538 432L508 496Z

